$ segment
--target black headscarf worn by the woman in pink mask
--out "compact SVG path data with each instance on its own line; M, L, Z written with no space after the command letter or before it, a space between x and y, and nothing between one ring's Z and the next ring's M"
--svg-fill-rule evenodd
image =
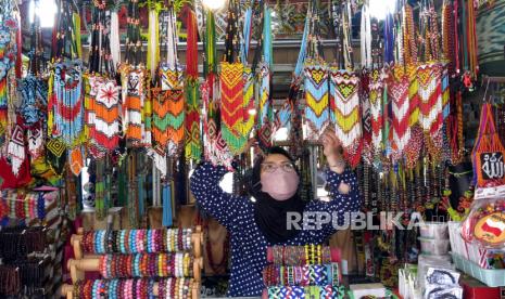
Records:
M296 173L300 176L293 158L286 150L274 146L266 152L266 155L272 154L286 156L293 164ZM247 178L248 192L256 200L254 205L254 220L263 235L273 244L281 244L299 233L294 227L288 230L287 213L302 213L305 209L305 202L301 199L299 192L287 200L277 200L268 193L262 192L261 169L263 160L264 157L262 156L254 161L252 173Z

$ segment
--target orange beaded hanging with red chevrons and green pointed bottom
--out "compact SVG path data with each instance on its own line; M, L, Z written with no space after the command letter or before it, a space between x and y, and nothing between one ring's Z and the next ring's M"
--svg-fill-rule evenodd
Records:
M220 132L232 154L241 152L248 141L243 125L243 65L220 64Z

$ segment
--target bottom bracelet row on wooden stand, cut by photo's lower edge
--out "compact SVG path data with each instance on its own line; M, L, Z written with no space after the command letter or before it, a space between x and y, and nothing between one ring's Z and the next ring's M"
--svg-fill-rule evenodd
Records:
M73 297L79 299L154 298L154 294L157 292L157 298L191 298L191 278L96 280L74 284Z

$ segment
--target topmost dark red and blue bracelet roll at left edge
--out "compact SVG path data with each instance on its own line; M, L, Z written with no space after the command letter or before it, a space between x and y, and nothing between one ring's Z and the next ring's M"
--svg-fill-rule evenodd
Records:
M0 193L0 219L39 219L46 217L46 199L42 193Z

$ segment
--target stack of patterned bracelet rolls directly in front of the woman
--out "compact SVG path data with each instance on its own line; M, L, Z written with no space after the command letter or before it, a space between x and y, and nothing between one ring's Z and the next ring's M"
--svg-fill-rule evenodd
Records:
M268 298L343 298L338 259L328 246L274 246L263 271Z

